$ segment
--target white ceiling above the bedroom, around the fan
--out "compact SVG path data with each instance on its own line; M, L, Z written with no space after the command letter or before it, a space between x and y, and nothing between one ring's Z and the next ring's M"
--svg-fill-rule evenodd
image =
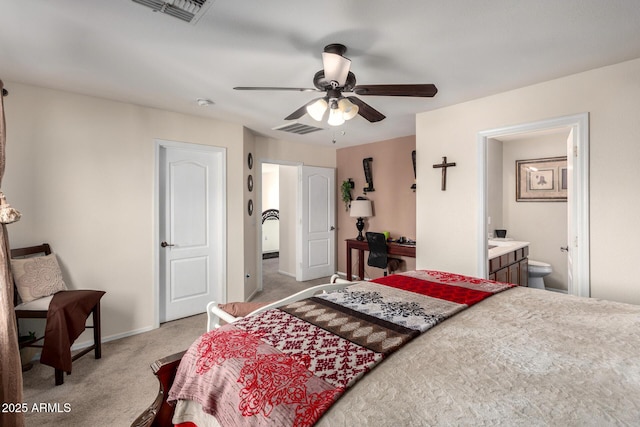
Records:
M638 0L215 0L195 25L131 0L0 0L0 17L5 82L336 147L412 135L416 113L640 57ZM313 87L329 43L347 46L359 84L434 83L439 92L361 97L387 118L293 135L271 129L318 94L232 89Z

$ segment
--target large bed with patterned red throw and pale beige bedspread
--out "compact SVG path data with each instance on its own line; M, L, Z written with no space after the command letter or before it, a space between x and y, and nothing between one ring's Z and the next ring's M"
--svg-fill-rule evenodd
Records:
M134 425L640 423L639 306L436 271L373 282L229 318L152 365Z

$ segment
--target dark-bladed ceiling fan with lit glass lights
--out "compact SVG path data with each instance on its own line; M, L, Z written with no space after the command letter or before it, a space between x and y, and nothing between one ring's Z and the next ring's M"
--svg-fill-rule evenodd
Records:
M355 96L345 97L343 92L353 92L359 96L411 96L433 97L438 89L433 84L390 84L390 85L356 85L356 76L350 71L351 60L344 57L347 48L342 44L330 44L322 53L323 69L313 77L315 89L287 88L287 87L255 87L240 86L236 90L288 90L288 91L315 91L326 92L323 98L298 108L285 117L285 120L296 120L309 114L314 120L322 121L329 110L327 123L331 126L340 126L346 120L353 119L356 115L362 116L371 123L379 122L385 115Z

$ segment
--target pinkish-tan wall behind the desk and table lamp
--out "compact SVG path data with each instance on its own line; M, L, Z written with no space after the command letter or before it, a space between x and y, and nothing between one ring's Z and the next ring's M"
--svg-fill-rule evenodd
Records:
M411 189L414 183L411 152L415 150L415 136L390 139L371 144L341 148L337 151L338 173L338 271L346 273L345 240L358 235L356 219L349 216L341 201L340 186L348 178L355 182L351 195L355 199L365 196L373 203L373 215L365 220L366 231L389 231L391 237L416 237L416 193ZM372 175L375 191L363 192L367 186L362 167L362 159L372 157ZM366 253L365 253L366 256ZM354 264L357 261L354 252ZM357 265L357 264L356 264ZM357 267L354 267L357 271ZM415 268L415 259L405 258L401 271ZM382 276L382 270L366 266L365 276Z

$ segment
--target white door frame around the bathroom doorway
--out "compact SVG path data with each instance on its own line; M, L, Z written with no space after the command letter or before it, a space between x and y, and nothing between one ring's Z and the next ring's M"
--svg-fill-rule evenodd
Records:
M506 135L523 134L547 129L570 128L573 130L573 144L567 144L567 159L573 160L571 171L575 191L570 192L567 203L573 209L569 221L574 236L569 247L572 250L573 285L569 294L589 297L591 278L589 265L589 113L562 116L515 126L490 129L478 133L478 277L488 274L488 228L487 228L487 158L488 141ZM578 240L579 239L579 240Z

